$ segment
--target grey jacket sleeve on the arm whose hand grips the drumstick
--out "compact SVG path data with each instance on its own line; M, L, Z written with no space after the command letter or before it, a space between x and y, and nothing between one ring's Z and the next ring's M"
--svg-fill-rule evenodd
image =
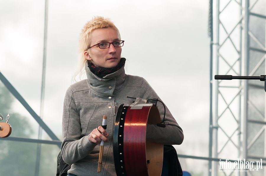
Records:
M69 165L86 157L97 145L89 141L88 135L81 136L80 115L71 87L67 89L64 99L62 136L62 158Z

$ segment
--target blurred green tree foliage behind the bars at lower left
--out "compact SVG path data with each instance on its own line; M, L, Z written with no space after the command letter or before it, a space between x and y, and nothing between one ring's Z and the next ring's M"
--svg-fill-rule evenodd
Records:
M12 110L15 98L9 90L0 82L0 113L6 122L7 114L10 114L9 124L12 126L10 137L30 138L33 129L29 122L30 118L23 117ZM59 152L56 145L42 145L41 165L39 176L56 175L56 157ZM18 142L0 138L0 176L36 176L37 144L31 142Z

